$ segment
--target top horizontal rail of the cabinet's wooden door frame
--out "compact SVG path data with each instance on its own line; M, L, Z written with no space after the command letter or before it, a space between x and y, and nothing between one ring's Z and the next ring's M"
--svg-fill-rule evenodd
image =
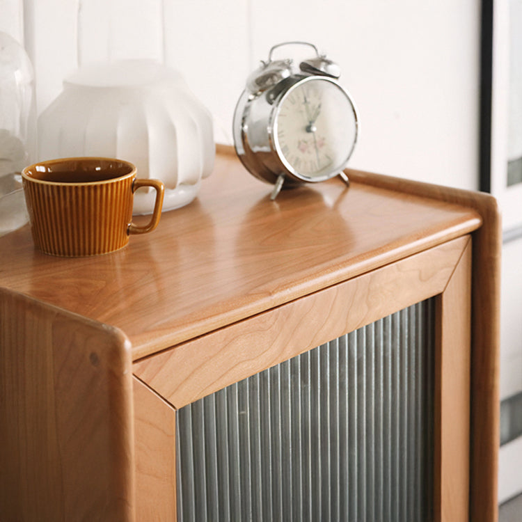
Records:
M303 351L441 294L469 243L468 236L454 239L143 358L134 363L134 374L179 409Z

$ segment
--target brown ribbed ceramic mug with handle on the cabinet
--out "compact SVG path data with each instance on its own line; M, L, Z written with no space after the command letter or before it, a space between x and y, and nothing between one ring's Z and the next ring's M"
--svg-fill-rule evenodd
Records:
M78 257L113 252L130 234L154 230L161 216L164 184L136 179L129 161L79 157L40 161L22 171L35 245L52 255ZM134 192L156 190L150 223L132 223Z

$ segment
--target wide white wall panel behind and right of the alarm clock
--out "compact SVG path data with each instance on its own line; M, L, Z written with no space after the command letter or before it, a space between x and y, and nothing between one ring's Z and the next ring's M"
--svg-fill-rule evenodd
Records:
M339 61L361 113L354 166L477 187L477 1L253 4L255 56L274 41L305 38Z

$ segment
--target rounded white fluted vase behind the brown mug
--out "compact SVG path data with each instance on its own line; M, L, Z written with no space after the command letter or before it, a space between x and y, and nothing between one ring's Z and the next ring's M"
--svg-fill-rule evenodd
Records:
M190 203L214 166L212 116L172 68L145 60L87 65L38 119L38 161L104 156L165 184L164 210ZM138 191L150 214L154 191Z

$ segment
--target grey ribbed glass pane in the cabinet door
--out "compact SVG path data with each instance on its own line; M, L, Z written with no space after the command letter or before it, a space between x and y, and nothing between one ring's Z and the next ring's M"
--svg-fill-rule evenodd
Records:
M178 521L431 520L433 374L430 299L185 406Z

